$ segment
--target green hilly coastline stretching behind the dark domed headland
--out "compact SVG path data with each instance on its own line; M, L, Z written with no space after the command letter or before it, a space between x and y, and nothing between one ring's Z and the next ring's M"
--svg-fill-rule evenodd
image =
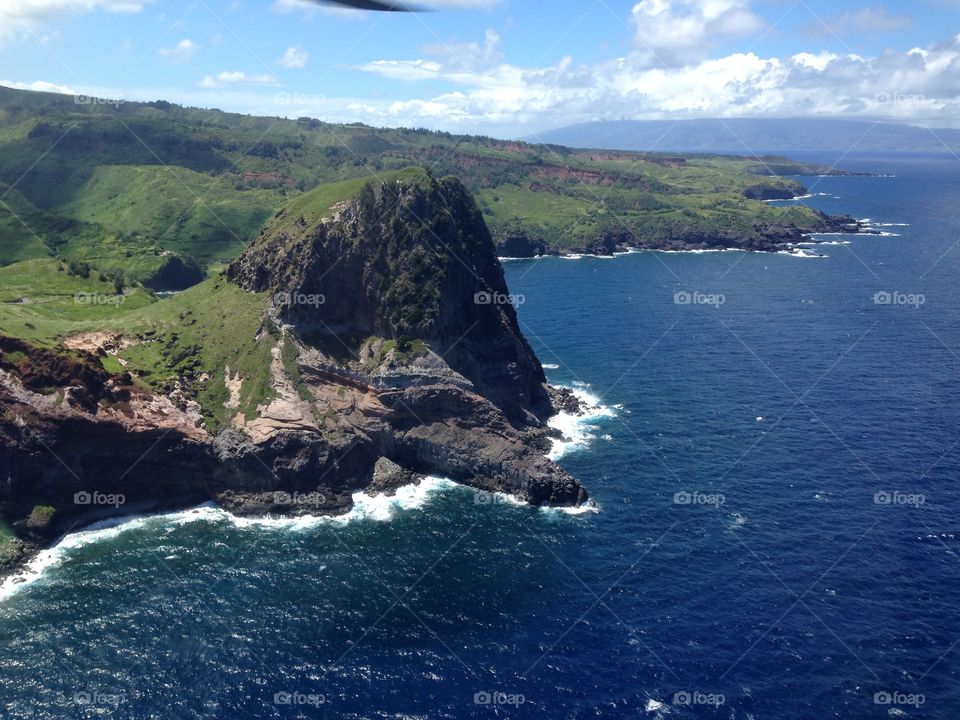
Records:
M643 238L815 221L742 200L763 181L762 162L700 156L675 167L664 157L0 88L0 183L16 185L0 185L0 202L23 221L0 204L0 263L54 253L144 277L171 250L219 267L304 190L410 165L461 177L495 238L521 229L558 249L611 230Z

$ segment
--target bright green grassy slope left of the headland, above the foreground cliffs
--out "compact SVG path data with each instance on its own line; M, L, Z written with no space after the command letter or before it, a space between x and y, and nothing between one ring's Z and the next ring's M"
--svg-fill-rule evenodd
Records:
M223 426L236 412L223 407L228 365L245 379L240 410L247 417L271 396L268 370L276 338L260 332L263 295L213 278L164 299L140 288L118 297L96 273L84 279L60 267L43 259L0 268L0 334L45 347L90 331L139 337L142 342L120 354L126 370L154 388L167 388L176 378L193 384L211 427ZM116 359L103 362L112 372L124 369ZM204 373L205 382L200 380Z

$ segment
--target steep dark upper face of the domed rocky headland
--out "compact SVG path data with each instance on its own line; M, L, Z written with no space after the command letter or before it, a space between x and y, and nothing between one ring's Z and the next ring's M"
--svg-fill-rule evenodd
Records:
M279 317L320 344L420 340L514 422L550 411L490 233L459 180L372 183L319 225L268 234L227 275L269 291Z

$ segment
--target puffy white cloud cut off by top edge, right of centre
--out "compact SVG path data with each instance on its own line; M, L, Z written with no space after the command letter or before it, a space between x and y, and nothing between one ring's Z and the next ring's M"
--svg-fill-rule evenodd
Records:
M640 0L630 19L638 59L648 65L684 65L704 57L715 40L763 27L750 0Z

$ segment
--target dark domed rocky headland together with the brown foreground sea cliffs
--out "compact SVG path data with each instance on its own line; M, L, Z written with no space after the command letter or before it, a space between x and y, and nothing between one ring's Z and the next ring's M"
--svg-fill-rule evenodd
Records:
M358 490L428 474L533 504L587 500L545 457L544 421L571 398L546 386L458 181L404 176L317 222L281 215L226 275L268 291L258 337L235 342L273 343L267 399L227 427L204 422L189 383L105 371L99 356L136 337L0 340L0 520L18 538L0 565L111 515L207 500L340 513ZM256 380L229 367L203 378L223 383L227 409Z

